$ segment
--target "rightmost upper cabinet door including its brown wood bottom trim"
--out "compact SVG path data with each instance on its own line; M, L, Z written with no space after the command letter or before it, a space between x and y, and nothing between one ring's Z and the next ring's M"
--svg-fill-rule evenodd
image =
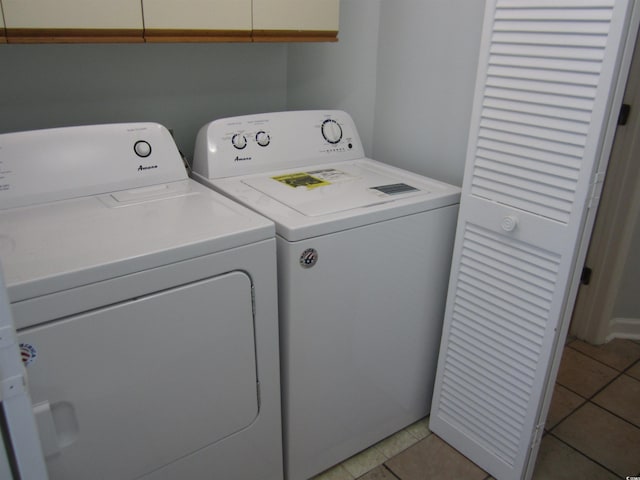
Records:
M340 0L253 0L254 41L335 41Z

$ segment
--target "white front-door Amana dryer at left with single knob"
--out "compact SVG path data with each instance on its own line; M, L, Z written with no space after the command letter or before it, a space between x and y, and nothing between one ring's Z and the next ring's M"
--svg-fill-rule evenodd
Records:
M282 479L274 225L153 123L0 135L3 264L51 479Z

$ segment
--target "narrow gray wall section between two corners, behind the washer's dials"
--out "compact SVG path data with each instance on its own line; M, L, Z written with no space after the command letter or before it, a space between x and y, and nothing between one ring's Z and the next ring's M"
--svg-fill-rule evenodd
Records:
M290 44L288 110L348 112L370 155L381 0L342 0L337 43Z

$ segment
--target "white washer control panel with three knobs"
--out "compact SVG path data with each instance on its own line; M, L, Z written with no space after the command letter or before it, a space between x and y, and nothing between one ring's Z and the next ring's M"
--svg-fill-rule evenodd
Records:
M214 179L363 157L346 112L276 112L206 124L196 138L193 171Z

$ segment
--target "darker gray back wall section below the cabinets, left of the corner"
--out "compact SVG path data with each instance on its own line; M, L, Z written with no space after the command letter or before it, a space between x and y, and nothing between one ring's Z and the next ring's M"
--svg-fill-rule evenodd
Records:
M215 118L286 108L284 44L0 45L0 133L156 121L191 158Z

